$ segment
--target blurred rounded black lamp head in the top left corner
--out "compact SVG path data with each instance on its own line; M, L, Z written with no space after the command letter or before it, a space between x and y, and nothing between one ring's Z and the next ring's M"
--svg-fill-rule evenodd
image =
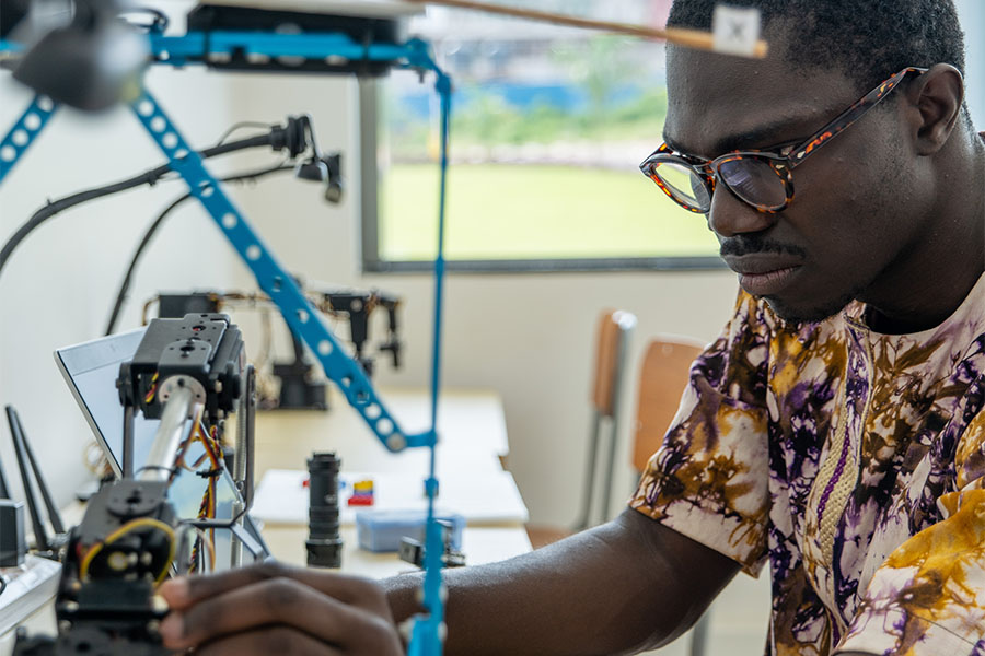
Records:
M120 10L117 0L76 0L71 23L45 34L13 77L58 103L90 112L135 99L150 46L117 17Z

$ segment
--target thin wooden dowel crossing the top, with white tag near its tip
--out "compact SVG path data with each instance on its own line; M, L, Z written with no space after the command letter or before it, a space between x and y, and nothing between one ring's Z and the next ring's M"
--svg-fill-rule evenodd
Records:
M540 21L553 23L555 25L566 25L568 27L581 27L584 30L600 30L602 32L611 32L614 34L626 34L629 36L638 36L641 38L665 39L669 43L696 48L699 50L714 50L715 40L709 32L699 30L685 30L682 27L668 27L661 30L659 27L647 27L646 25L634 25L630 23L613 23L610 21L596 21L592 19L580 19L578 16L568 16L546 11L536 11L533 9L519 9L511 7L502 7L499 4L487 4L485 2L476 2L475 0L408 0L416 4L434 4L439 7L455 7L459 9L468 9L473 11L482 11L484 13L499 14L503 16L513 16L518 19L528 19L531 21ZM756 40L753 49L753 57L766 57L768 46L765 40Z

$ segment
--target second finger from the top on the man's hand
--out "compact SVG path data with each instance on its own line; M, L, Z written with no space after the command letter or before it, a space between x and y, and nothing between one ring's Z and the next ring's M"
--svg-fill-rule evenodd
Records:
M367 611L289 577L265 578L200 599L172 612L161 624L161 635L169 648L179 649L265 625L296 629L346 649L371 644L386 654L399 646L389 609Z

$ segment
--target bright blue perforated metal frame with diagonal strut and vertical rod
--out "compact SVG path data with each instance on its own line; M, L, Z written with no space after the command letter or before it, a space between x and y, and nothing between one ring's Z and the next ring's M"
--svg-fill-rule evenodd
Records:
M431 425L420 434L406 434L378 397L362 367L344 352L318 312L288 274L259 234L225 195L222 185L208 172L198 153L185 141L175 125L150 93L143 91L131 103L135 115L163 151L172 168L188 185L193 196L240 254L266 292L283 315L291 330L313 351L325 375L336 383L351 405L383 445L399 452L406 447L429 447L430 471L425 480L428 495L428 523L425 541L425 582L422 606L425 612L414 618L408 645L409 656L439 656L445 634L445 589L441 577L444 552L444 528L434 518L438 494L436 477L436 445L438 442L438 397L441 387L441 318L444 294L444 208L448 174L449 117L451 112L451 80L438 68L425 42L410 39L403 45L357 44L344 34L263 34L255 32L212 32L208 35L188 33L170 36L152 32L151 49L158 63L185 66L205 62L211 57L234 51L265 57L341 57L352 60L387 61L421 73L433 72L436 91L441 103L441 183L439 189L438 251L434 260L434 331L431 370ZM16 44L0 42L0 52L16 50ZM37 96L13 128L0 141L0 183L24 155L40 133L56 105Z

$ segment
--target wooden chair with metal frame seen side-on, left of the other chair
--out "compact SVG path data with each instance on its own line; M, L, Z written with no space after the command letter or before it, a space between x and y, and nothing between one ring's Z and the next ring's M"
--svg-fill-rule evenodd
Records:
M573 529L546 526L528 526L526 534L534 549L556 542L572 532L592 525L591 515L594 501L595 470L599 460L599 442L603 427L607 427L609 457L602 470L602 500L599 505L601 520L606 519L612 479L615 470L615 452L619 431L618 408L626 363L629 336L636 327L636 316L624 311L605 309L599 316L595 331L595 352L592 368L590 396L592 423L589 432L589 453L586 466L586 482L582 505Z

